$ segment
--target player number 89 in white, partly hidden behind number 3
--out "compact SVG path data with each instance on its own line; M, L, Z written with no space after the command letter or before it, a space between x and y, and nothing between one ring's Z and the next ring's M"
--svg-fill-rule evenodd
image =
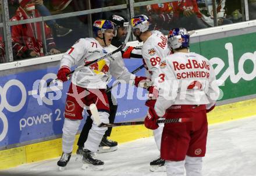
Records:
M141 48L145 68L147 69L147 76L155 79L154 72L159 69L161 58L170 54L170 49L167 45L167 38L160 31L150 31L148 17L145 15L138 15L131 19L131 26L133 27L133 34L139 42L144 42ZM155 92L154 87L148 89L149 94L153 95ZM146 104L147 106L151 106ZM160 150L161 135L163 125L153 131L155 142ZM150 163L151 171L165 171L165 160L158 158Z

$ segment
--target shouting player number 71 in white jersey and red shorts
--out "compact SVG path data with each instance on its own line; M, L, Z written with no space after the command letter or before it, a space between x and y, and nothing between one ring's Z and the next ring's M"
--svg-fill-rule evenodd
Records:
M95 38L81 38L62 57L61 66L57 77L61 81L67 81L70 67L83 66L90 63L106 53L117 49L111 45L114 37L115 26L109 20L96 20L93 24ZM99 60L88 67L74 71L71 78L69 91L65 104L65 122L62 128L62 156L58 166L63 168L70 160L73 150L75 135L83 119L84 107L95 103L99 111L102 123L109 123L109 103L105 90L111 76L116 80L125 80L127 83L138 87L141 80L146 77L136 77L126 69L122 55L117 52L106 59ZM91 114L90 114L91 115ZM91 116L93 118L93 116ZM103 161L94 158L99 143L107 128L99 128L93 123L87 141L84 143L83 168L93 167L101 169Z

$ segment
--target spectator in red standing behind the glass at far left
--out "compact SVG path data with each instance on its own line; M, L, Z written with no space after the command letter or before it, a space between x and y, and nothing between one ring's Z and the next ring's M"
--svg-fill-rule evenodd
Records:
M20 6L16 10L15 16L12 17L12 21L31 19L33 14L34 17L40 17L40 14L35 10L34 0L19 0L19 2ZM51 54L60 53L58 49L55 49L54 38L52 38L51 30L46 24L44 24L44 30L47 52ZM44 56L40 23L19 24L12 26L11 31L15 59Z

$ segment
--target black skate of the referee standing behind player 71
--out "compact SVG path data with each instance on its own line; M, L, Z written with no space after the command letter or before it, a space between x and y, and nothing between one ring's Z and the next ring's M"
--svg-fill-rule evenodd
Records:
M99 149L97 153L113 152L118 149L118 142L112 141L107 137L103 137L101 143L99 143Z

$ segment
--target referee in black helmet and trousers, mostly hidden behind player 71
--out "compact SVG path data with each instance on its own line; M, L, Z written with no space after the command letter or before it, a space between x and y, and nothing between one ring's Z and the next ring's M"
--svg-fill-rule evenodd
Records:
M129 21L126 19L125 16L113 14L109 17L110 21L112 21L116 25L116 36L112 38L111 45L119 47L123 45L123 38L127 36L128 28L129 28ZM132 46L125 46L121 50L122 52L122 58L123 59L130 59L130 58L142 58L141 56L141 48L140 47L132 47ZM106 92L106 95L108 96L108 102L109 102L109 123L114 123L115 117L116 117L116 111L118 110L118 103L115 99L115 96L111 94L111 91ZM86 142L86 139L88 137L89 130L91 128L91 125L93 124L93 120L90 117L87 117L86 123L84 124L84 127L80 133L79 139L77 141L77 145L79 148L77 149L77 155L83 155L83 148L84 148L84 142ZM112 127L108 127L108 130L106 130L101 143L99 143L99 149L97 153L105 153L105 152L112 152L118 149L118 142L112 141L108 137L111 136Z

